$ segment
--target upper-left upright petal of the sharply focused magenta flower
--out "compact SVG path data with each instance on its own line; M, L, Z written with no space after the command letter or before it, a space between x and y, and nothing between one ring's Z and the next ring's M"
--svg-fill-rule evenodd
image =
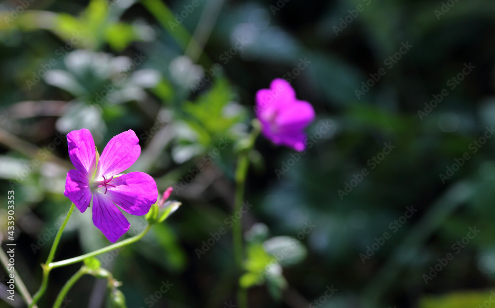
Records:
M79 171L93 175L96 168L95 141L89 130L83 128L67 134L69 157Z

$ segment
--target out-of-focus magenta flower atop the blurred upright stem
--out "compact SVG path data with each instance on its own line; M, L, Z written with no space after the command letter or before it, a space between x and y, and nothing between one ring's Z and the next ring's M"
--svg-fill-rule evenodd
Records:
M315 117L311 104L296 99L296 92L284 79L274 79L270 89L256 92L256 116L261 132L276 145L296 151L306 148L304 129Z

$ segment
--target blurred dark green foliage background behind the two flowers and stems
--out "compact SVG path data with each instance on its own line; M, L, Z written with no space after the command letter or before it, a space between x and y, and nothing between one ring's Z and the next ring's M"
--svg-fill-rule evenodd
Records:
M249 307L495 303L493 1L4 0L0 9L0 230L14 190L16 269L31 293L70 206L65 135L88 128L101 151L133 129L142 153L129 172L148 172L159 192L173 186L183 205L143 240L100 256L102 266L131 308L234 307L234 148L251 129L256 91L278 77L317 119L306 152L260 136L250 156ZM128 218L122 238L143 229L143 217ZM107 244L91 211L75 211L55 260ZM39 307L79 266L51 272ZM63 307L107 307L105 284L83 277Z

